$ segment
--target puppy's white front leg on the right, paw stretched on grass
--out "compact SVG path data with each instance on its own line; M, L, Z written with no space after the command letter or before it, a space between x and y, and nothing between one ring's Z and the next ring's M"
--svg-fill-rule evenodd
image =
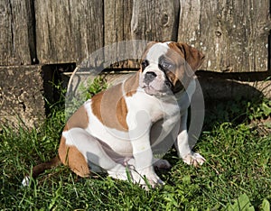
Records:
M192 151L192 143L189 142L189 137L187 133L187 115L188 111L186 110L181 116L180 131L175 142L175 147L178 151L178 155L182 158L182 161L189 165L198 166L202 165L205 159L199 153Z

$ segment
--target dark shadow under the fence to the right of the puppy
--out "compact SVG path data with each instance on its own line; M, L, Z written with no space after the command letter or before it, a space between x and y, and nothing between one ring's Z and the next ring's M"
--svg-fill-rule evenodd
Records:
M237 125L247 121L252 112L249 105L258 106L265 97L248 82L204 76L199 77L199 82L205 101L203 131L225 122ZM266 83L262 89L264 92L271 89L271 83Z

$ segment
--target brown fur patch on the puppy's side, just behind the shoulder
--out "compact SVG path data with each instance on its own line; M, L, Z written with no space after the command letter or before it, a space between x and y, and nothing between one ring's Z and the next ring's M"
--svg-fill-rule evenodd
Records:
M122 84L108 88L91 98L92 113L98 120L109 128L127 131L127 107L123 96Z

